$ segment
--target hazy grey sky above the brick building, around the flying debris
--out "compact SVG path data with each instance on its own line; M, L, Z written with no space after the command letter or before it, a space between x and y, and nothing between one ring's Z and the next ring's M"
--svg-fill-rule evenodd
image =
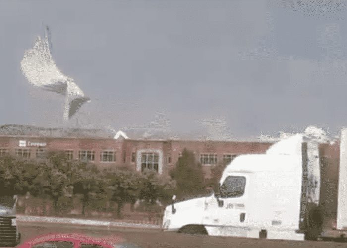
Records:
M346 1L0 0L0 124L244 138L347 126ZM52 33L57 66L91 98L32 86L24 50Z

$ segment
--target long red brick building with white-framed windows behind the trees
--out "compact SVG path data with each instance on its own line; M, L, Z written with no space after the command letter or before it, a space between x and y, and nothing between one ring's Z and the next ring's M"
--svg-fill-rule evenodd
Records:
M23 131L24 128L24 131ZM264 153L269 142L186 141L155 137L131 137L124 132L49 129L27 126L0 127L0 154L24 159L40 158L46 151L64 151L70 159L95 163L99 169L153 168L168 175L184 148L195 154L206 171L239 154Z

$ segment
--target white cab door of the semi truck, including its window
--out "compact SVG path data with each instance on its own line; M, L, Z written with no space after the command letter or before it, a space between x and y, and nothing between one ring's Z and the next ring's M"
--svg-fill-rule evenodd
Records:
M231 232L229 235L232 236L247 236L248 179L249 175L246 174L227 176L217 195L219 199L216 209L218 223L222 227L229 227L228 232Z

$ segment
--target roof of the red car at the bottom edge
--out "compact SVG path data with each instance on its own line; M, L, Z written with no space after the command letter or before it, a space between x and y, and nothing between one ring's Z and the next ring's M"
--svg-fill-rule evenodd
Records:
M24 242L18 248L139 248L117 236L102 238L80 233L51 234Z

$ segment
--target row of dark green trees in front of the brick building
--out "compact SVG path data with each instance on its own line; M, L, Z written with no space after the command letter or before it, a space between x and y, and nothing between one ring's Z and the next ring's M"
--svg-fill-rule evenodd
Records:
M92 163L68 160L64 153L49 152L39 160L20 160L9 155L0 156L0 196L30 193L36 197L49 197L58 210L60 197L83 196L82 214L91 199L117 202L117 215L126 203L131 208L139 200L154 204L160 199L168 202L173 194L178 198L205 192L215 185L222 166L213 169L212 181L206 182L201 164L194 154L182 152L170 176L154 171L145 173L128 170L99 171Z

